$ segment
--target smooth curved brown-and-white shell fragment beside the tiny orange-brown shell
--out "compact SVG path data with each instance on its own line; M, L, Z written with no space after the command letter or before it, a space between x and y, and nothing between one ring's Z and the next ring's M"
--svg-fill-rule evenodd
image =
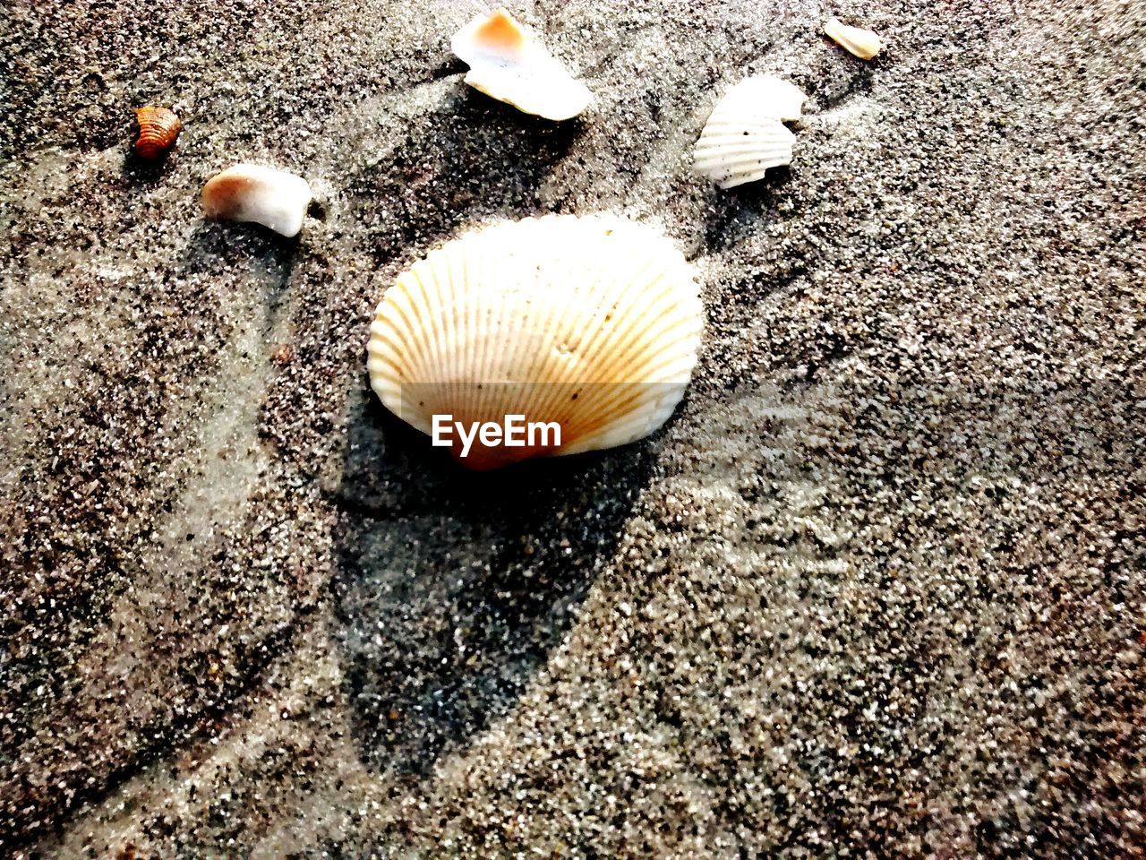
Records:
M301 177L258 164L236 164L203 186L203 209L210 218L253 221L284 236L303 229L311 197Z

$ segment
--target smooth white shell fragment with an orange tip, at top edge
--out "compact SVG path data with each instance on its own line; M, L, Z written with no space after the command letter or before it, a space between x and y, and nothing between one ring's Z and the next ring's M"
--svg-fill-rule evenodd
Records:
M544 119L575 117L592 97L528 30L504 9L479 15L450 40L470 71L465 83Z

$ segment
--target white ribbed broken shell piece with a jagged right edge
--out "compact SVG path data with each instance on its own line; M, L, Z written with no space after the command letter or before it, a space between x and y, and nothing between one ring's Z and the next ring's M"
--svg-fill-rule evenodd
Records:
M795 135L784 120L799 119L807 96L770 75L747 78L713 108L693 150L693 167L721 188L762 179L792 162Z

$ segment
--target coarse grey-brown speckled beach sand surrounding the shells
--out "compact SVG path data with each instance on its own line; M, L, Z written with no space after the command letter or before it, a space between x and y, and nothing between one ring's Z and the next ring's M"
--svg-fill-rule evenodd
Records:
M1146 857L1146 8L511 3L559 125L462 85L479 8L6 6L0 853ZM795 159L719 191L748 72ZM297 240L202 218L244 159ZM697 267L662 432L473 476L384 414L401 268L596 211Z

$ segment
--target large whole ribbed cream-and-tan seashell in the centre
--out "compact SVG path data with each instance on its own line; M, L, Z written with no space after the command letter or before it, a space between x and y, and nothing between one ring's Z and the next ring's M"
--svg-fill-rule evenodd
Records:
M527 218L465 234L399 275L370 326L367 367L386 408L425 433L435 415L560 428L559 445L476 443L461 458L496 468L654 431L684 394L702 322L690 266L656 229Z

